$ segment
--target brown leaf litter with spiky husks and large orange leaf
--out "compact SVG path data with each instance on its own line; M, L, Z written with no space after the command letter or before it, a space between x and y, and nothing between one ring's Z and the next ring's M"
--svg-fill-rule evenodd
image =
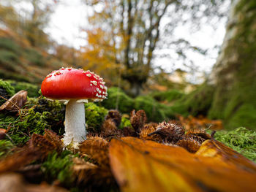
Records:
M110 110L99 134L90 132L73 151L69 187L57 179L45 186L63 191L256 190L252 161L217 142L202 124L195 126L194 121L189 127L184 121L147 123L143 110L133 110L132 127L120 129L121 114ZM32 134L26 145L1 159L0 173L10 177L15 172L12 177L28 188L32 184L17 178L42 174L42 163L54 152L64 153L61 137L48 129L43 136ZM41 188L42 182L33 185Z

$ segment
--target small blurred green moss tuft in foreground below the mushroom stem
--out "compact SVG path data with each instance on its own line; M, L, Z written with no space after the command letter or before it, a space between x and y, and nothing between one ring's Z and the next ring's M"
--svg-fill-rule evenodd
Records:
M72 155L69 151L64 150L61 155L54 152L48 155L47 160L42 164L42 172L45 180L52 183L59 180L61 184L68 186L72 183Z

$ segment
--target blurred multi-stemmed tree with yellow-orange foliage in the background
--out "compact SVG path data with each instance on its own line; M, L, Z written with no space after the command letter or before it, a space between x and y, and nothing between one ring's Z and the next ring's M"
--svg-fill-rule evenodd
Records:
M186 49L206 53L193 47L185 39L172 39L178 23L200 26L200 19L223 17L221 6L225 0L86 0L94 9L89 18L91 26L86 28L89 46L84 58L89 68L119 69L122 80L129 82L129 90L140 94L143 83L154 73L152 61L155 50L176 45L176 53L186 59ZM187 15L184 17L183 15ZM165 38L161 38L160 23L165 18ZM92 56L93 55L93 56ZM113 76L113 71L110 76ZM119 74L120 76L120 74Z

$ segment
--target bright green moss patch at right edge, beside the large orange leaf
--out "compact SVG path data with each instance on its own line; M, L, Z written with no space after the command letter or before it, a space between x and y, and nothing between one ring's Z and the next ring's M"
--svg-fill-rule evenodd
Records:
M256 132L244 127L233 131L218 131L214 138L256 162Z

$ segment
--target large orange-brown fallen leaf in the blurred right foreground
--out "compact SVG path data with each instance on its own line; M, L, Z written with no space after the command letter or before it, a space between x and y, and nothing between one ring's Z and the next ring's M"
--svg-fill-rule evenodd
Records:
M238 165L230 153L208 157L206 148L201 155L134 137L112 139L110 166L122 191L256 191L255 164L238 156Z

